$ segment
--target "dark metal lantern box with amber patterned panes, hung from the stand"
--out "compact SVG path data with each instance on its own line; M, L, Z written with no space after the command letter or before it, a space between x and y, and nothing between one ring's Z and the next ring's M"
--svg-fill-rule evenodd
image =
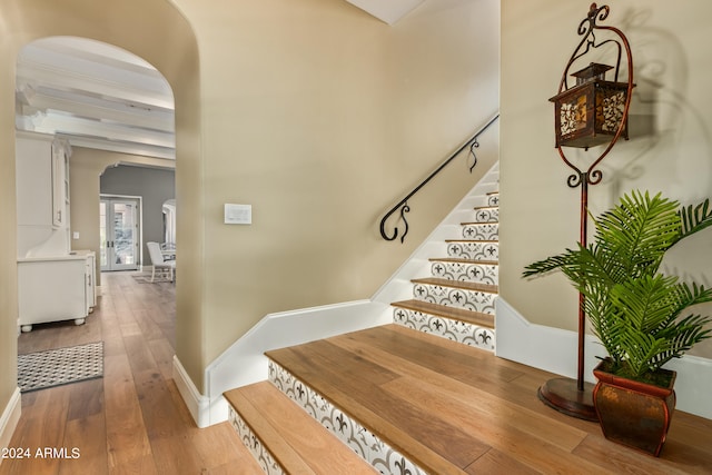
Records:
M621 137L627 140L627 82L605 80L612 66L592 62L572 73L576 85L554 96L556 147L595 147L610 142L621 122Z

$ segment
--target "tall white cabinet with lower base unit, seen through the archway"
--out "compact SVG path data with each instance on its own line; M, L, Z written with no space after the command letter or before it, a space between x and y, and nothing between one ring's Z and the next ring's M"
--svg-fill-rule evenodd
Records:
M96 257L70 253L69 155L66 140L33 132L16 137L18 303L22 331L75 320L96 306Z

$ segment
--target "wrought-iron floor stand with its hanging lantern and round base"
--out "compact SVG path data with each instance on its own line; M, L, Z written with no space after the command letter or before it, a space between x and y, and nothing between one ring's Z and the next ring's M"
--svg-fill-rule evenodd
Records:
M627 115L633 95L633 57L631 46L621 30L599 24L609 17L610 8L599 8L591 3L586 18L578 24L582 37L571 56L558 83L558 93L550 99L555 105L556 149L564 164L572 169L566 180L570 188L581 188L580 200L580 244L586 247L589 217L589 187L603 179L597 168L611 151L617 139L627 139ZM602 38L596 38L600 34ZM599 49L601 48L601 49ZM591 62L584 69L570 73L574 63L585 63L582 58L596 51L591 59L596 59L611 51L615 52L614 67ZM617 82L621 73L623 53L627 59L627 81ZM605 73L613 70L613 81L606 81ZM576 83L568 87L568 77L576 78ZM566 157L564 147L589 149L587 154L576 154L577 160ZM584 380L586 314L585 296L578 295L578 353L576 358L576 379L552 378L538 389L538 397L544 404L586 420L597 420L593 405L593 385Z

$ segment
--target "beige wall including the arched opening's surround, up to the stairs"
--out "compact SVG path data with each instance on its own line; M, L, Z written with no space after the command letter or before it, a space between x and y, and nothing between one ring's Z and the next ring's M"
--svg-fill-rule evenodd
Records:
M205 367L265 315L370 297L496 159L481 156L474 175L453 164L411 202L406 244L380 239L385 210L497 110L498 3L431 0L394 27L342 0L175 4L197 46L159 0L0 0L0 55L13 67L34 37L85 36L170 82L177 354L201 388ZM1 103L12 103L12 77L0 77ZM12 110L0 111L0 156L12 156ZM253 205L253 225L224 225L226 202ZM12 366L14 346L2 352ZM13 386L3 376L0 393Z

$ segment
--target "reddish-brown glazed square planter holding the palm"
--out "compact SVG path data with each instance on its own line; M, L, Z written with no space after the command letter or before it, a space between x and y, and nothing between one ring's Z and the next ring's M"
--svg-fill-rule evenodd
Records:
M614 376L602 369L604 365L602 362L593 370L599 379L593 404L603 435L659 456L675 409L675 372L661 369L671 375L671 382L668 387L660 387Z

